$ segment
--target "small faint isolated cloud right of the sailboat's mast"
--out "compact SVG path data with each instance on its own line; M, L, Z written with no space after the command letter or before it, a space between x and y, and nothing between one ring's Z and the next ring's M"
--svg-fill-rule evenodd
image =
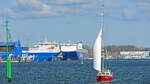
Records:
M128 10L128 9L123 10L122 15L125 19L128 19L128 20L135 20L137 19L137 16L138 16L136 11Z

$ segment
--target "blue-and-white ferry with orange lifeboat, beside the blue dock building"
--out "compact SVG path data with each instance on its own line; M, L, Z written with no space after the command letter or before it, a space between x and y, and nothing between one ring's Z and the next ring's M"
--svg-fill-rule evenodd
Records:
M29 47L28 50L22 51L22 59L30 59L33 61L52 61L57 59L57 55L60 52L59 44L56 42L40 42L33 47Z

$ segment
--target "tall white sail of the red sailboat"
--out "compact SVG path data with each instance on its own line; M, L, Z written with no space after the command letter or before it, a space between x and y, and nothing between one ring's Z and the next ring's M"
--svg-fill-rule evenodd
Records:
M93 47L93 67L97 71L101 71L101 46L102 46L102 28L97 36Z

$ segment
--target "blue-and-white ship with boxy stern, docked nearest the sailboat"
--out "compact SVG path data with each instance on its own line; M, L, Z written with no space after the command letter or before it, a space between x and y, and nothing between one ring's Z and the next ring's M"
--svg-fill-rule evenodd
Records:
M83 48L82 42L71 44L61 44L60 50L62 52L63 60L86 60L88 58L88 50Z

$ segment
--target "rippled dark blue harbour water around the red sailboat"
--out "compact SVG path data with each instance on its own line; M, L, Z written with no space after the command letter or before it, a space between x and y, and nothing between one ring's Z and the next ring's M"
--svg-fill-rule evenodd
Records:
M150 84L150 60L106 60L114 73L110 83L96 82L92 61L13 63L9 84ZM0 84L7 84L6 64L0 64Z

